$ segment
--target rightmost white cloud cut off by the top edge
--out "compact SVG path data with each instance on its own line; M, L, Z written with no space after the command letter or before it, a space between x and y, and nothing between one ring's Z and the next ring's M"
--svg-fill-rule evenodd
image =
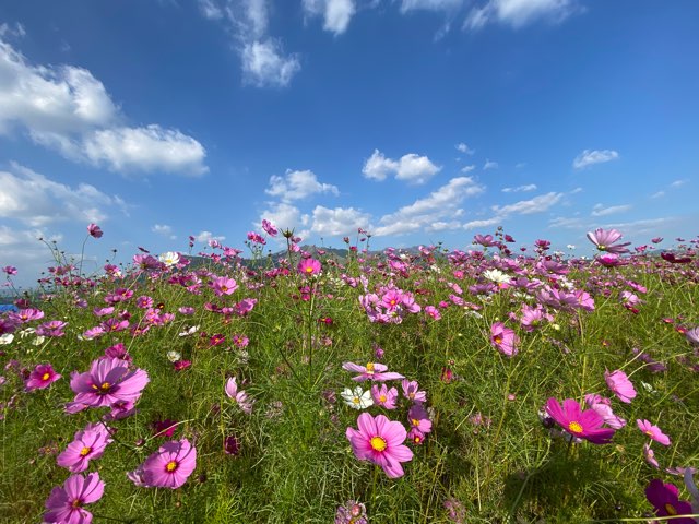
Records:
M488 0L474 7L464 21L464 28L479 29L489 22L498 22L513 28L537 20L558 23L578 11L574 0Z

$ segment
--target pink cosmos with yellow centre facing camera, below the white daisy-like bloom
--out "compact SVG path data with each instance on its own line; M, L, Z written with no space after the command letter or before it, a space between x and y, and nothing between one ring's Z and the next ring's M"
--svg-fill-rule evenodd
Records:
M357 418L357 426L358 431L347 428L345 432L355 456L378 464L389 478L402 477L404 472L401 462L413 460L413 452L403 444L407 437L403 425L383 415L374 418L363 413Z

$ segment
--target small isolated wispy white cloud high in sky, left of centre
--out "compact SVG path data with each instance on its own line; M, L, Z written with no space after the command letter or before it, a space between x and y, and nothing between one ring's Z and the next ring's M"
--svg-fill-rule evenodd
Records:
M285 87L301 66L295 55L284 56L275 40L251 41L242 48L246 82L257 87Z

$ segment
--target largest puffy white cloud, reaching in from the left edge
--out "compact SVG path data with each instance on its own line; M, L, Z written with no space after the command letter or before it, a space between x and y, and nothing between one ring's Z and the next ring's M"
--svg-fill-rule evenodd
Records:
M82 68L32 66L0 41L0 134L24 129L74 162L112 171L206 171L204 147L176 129L130 128L104 84Z

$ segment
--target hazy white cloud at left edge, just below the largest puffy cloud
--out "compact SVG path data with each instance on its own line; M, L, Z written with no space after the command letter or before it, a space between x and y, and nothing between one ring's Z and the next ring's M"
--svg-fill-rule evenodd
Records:
M63 221L102 223L108 216L105 207L123 203L88 183L70 187L17 164L12 170L0 171L0 217L32 227Z

